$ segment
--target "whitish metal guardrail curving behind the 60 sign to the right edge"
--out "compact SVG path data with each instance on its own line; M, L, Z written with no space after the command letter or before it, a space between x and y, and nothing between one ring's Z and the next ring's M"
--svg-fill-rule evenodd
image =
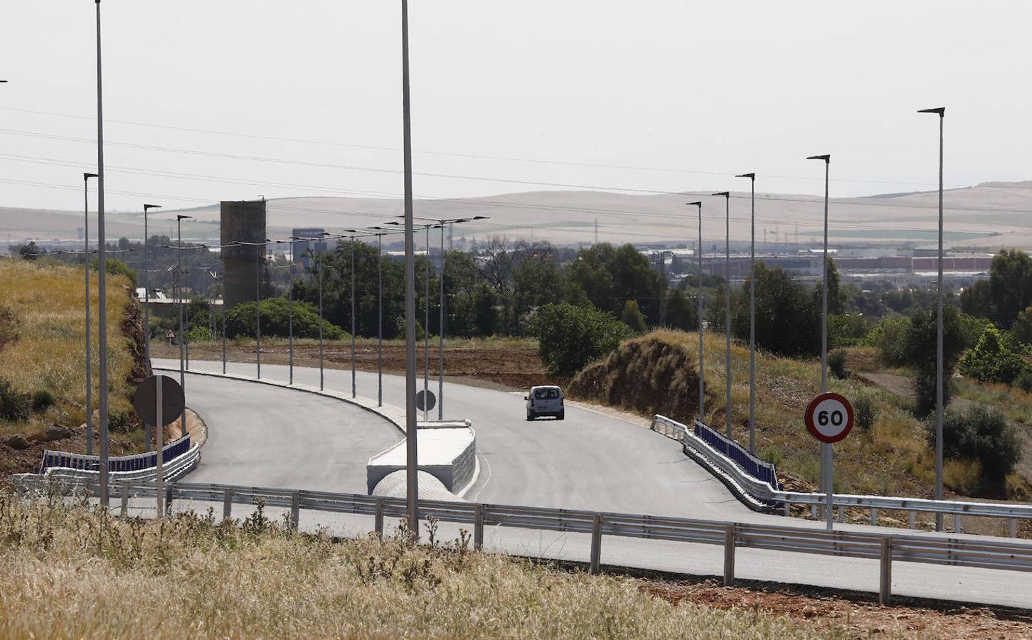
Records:
M810 505L813 517L817 508L825 504L824 493L804 493L801 491L784 491L771 486L745 473L734 460L723 455L707 442L696 436L685 425L671 420L666 416L656 415L652 420L652 430L664 434L682 443L685 450L695 453L694 457L703 462L712 473L721 475L733 482L745 494L740 495L752 500L755 504L777 505L788 515L792 505ZM877 524L878 511L907 512L908 526L914 527L914 516L917 513L942 513L954 516L954 529L963 533L964 516L983 516L1008 519L1010 537L1018 537L1018 520L1032 519L1032 505L1015 505L1005 503L975 503L952 500L926 500L920 498L895 498L884 495L856 495L849 493L834 494L833 506L839 508L839 520L845 517L845 508L861 508L870 510L871 524Z

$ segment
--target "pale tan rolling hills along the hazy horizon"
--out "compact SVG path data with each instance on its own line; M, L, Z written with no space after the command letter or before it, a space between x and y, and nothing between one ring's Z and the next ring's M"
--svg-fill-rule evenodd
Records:
M601 242L692 243L698 222L687 200L702 200L706 244L723 238L722 198L709 192L663 195L595 191L534 191L487 197L417 200L417 216L457 218L489 216L490 220L455 228L483 241L489 235L547 239L560 245ZM931 247L938 228L936 191L836 198L830 206L832 242L842 244L910 245ZM387 198L296 197L269 200L270 237L286 237L294 227L329 230L382 224L401 214L401 201ZM152 233L174 228L172 210L151 216ZM215 241L219 235L218 205L189 210L184 237ZM945 238L954 247L1017 246L1032 248L1032 182L983 183L945 193ZM731 200L732 241L749 238L749 196L736 192ZM812 195L756 194L756 242L802 244L819 242L823 199ZM44 241L75 238L80 212L0 207L0 241L26 237ZM107 217L111 237L142 235L142 214L112 213ZM786 236L787 234L787 236Z

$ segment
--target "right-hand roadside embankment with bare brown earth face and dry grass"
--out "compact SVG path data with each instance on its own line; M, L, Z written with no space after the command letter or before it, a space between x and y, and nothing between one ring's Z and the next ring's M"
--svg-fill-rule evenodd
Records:
M698 410L698 353L696 333L653 331L624 343L616 352L585 367L574 379L571 392L643 415L660 413L688 421ZM706 420L722 431L727 380L723 337L707 334L704 353ZM803 411L820 388L819 376L817 360L801 361L757 352L756 450L765 459L776 462L782 475L800 481L791 481L789 486L803 489L813 489L818 481L819 449L806 433ZM741 443L748 442L748 348L733 345L733 433ZM828 384L830 390L849 398L866 394L878 409L870 429L854 426L850 436L835 446L836 490L931 498L934 451L927 445L923 423L909 412L909 401L868 385L859 376L847 380L831 377ZM960 395L990 392L1004 393L1015 412L1032 407L1028 394L960 385ZM947 460L944 474L948 487L963 489L969 484L970 470L964 462ZM1013 484L1022 482L1015 479Z

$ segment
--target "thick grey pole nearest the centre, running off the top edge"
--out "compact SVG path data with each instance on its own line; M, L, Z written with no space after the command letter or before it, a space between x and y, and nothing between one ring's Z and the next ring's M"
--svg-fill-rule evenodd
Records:
M405 433L409 535L419 539L416 434L416 271L412 236L412 104L409 95L409 0L401 0L401 128L405 163Z

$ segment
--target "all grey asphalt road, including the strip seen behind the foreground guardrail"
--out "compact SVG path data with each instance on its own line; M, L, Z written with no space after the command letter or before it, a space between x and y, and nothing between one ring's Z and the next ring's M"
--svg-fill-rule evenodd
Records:
M191 369L221 372L221 363L192 362ZM229 363L228 372L253 376L255 369ZM318 385L318 370L294 370L295 381L304 384ZM286 380L287 370L265 365L262 377ZM326 387L350 390L351 373L326 370ZM431 389L436 391L436 385ZM357 392L376 397L376 375L360 372ZM385 403L401 405L401 392L400 377L384 377ZM209 434L203 461L188 476L189 481L364 492L364 460L375 452L367 448L376 449L377 443L385 448L398 437L393 427L362 409L251 382L188 376L187 404L208 422ZM685 458L676 443L645 427L571 406L565 421L526 422L523 407L522 393L445 385L444 417L470 419L477 430L482 466L469 500L823 527L820 522L749 511ZM364 443L360 447L354 445L359 439ZM204 509L206 505L181 503L178 508ZM244 517L250 511L236 505L233 515ZM358 536L372 529L372 519L302 511L301 527L328 527ZM440 535L457 536L457 525L442 523ZM485 532L485 548L581 562L589 554L585 535L508 527ZM719 575L722 557L722 548L716 545L606 537L602 546L604 565L697 575ZM737 551L736 574L744 579L840 589L873 591L878 587L876 561L759 549ZM1032 575L1019 572L895 563L893 591L1032 609Z

